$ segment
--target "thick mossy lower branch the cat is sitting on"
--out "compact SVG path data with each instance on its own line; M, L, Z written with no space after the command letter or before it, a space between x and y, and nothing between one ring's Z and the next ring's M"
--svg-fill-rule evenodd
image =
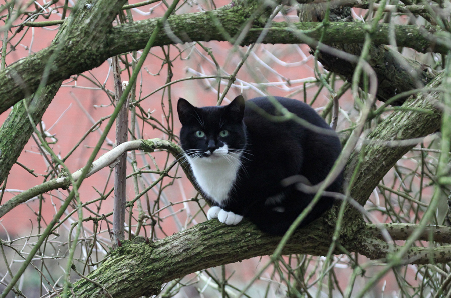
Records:
M441 227L451 234L450 227ZM325 255L331 243L333 227L320 218L300 229L290 239L283 254ZM158 294L161 284L196 271L268 255L280 241L268 236L244 220L238 226L227 226L217 220L199 223L192 228L155 243L126 242L113 252L100 268L88 275L108 289L115 298ZM138 241L136 241L138 242ZM360 252L370 258L386 258L399 246L371 237L364 229L352 241L343 242L349 252ZM339 250L335 253L342 253ZM451 261L451 247L413 247L402 263ZM77 297L102 296L103 290L82 279L74 284Z

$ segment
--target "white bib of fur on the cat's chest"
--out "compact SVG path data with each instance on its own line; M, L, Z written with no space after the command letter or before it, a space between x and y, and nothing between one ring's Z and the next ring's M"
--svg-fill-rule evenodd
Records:
M200 188L219 205L227 200L241 167L241 152L229 153L225 145L209 157L186 157Z

